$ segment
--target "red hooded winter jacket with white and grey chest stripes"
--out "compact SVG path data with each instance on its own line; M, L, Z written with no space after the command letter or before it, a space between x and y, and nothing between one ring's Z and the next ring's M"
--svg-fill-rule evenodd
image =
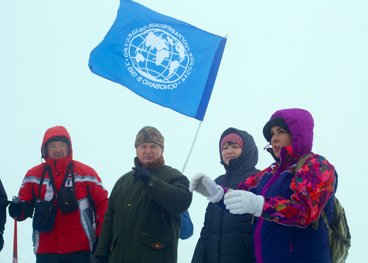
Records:
M69 140L69 155L61 159L51 159L46 154L46 142L55 136L65 136ZM46 130L41 146L42 157L51 166L56 189L59 190L64 179L66 168L73 159L71 138L62 126L55 126ZM35 205L39 193L39 184L46 163L31 168L19 191L20 199L30 201ZM62 214L57 210L54 229L49 233L37 234L33 231L34 253L70 253L75 251L92 250L95 237L92 223L93 210L96 213L96 237L101 231L104 213L108 206L108 192L103 188L101 179L91 168L73 160L75 193L79 209L73 213ZM68 177L65 186L72 186ZM48 173L42 184L40 200L51 200L55 192L50 184ZM90 198L89 198L90 197ZM91 198L92 197L92 198Z

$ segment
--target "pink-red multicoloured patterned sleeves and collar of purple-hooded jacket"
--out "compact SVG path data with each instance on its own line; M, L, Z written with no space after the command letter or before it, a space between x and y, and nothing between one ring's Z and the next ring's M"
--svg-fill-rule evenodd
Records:
M284 151L286 153L284 155L284 171L295 174L295 165L293 164L296 164L300 157L292 155L291 146L285 148L287 151ZM274 163L264 171L241 182L238 190L249 191L258 185L264 175L274 175L278 168L280 168L278 163ZM261 217L286 226L307 227L308 224L317 220L328 198L334 194L336 179L334 172L334 166L323 156L312 155L291 181L290 187L294 191L291 199L266 196Z

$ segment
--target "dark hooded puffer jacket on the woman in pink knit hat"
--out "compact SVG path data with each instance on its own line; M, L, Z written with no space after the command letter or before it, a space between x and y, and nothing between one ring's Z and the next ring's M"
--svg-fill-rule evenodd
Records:
M243 130L228 128L223 132L222 139L231 133L241 135L244 147L241 155L231 159L229 166L220 160L226 174L215 181L219 185L237 189L240 182L260 172L255 168L258 162L258 149L253 137ZM197 242L192 263L253 263L253 224L252 215L235 216L226 213L214 203L209 203L204 217L201 237Z

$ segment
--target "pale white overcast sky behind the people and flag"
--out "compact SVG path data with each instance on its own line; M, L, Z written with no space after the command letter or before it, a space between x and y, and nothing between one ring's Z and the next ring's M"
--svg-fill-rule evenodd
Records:
M335 165L337 197L352 234L347 262L362 262L368 231L368 2L137 0L205 31L228 34L217 80L184 174L224 174L218 143L236 127L250 133L257 168L273 162L262 128L274 111L304 108L314 118L313 152ZM199 124L93 74L90 52L115 21L118 0L0 2L0 178L8 199L26 172L41 163L45 130L62 125L74 159L92 166L111 192L133 166L134 139L151 125L165 137L167 165L182 170ZM194 193L194 235L179 241L190 262L203 226L206 199ZM32 220L19 222L18 260L35 262ZM0 262L12 260L14 220L8 216Z

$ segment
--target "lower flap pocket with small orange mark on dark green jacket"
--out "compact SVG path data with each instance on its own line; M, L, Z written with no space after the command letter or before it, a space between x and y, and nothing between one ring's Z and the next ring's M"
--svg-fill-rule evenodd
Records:
M141 262L171 262L172 258L177 258L176 254L173 255L172 235L143 233L141 241L142 249L138 253L141 254Z

